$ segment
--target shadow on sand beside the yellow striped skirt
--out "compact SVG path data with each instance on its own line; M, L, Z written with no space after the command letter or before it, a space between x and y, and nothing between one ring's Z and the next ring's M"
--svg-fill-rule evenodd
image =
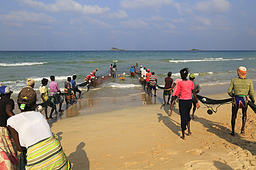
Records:
M90 162L89 158L87 157L86 152L84 151L85 143L80 142L79 145L76 147L76 151L73 153L70 153L70 155L67 157L68 161L73 164L72 169L84 169L89 170L90 169Z

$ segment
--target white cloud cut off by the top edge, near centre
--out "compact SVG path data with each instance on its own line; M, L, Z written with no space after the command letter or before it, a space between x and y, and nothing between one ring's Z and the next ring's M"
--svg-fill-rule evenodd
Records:
M157 10L172 3L172 0L123 0L120 2L120 6L125 9L147 8L149 10Z

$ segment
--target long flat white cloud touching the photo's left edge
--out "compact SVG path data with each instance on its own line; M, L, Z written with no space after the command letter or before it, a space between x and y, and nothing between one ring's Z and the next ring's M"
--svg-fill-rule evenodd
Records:
M47 14L37 14L35 12L27 12L25 10L10 11L8 14L0 14L2 21L15 21L26 23L55 23L55 18Z

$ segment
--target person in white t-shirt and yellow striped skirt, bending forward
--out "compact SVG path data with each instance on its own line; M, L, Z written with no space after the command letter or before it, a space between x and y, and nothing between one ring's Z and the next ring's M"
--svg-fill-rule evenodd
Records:
M46 118L35 110L37 94L30 87L19 92L21 113L8 118L7 126L18 151L26 153L26 169L71 169L60 142L53 136ZM29 89L29 90L28 90Z

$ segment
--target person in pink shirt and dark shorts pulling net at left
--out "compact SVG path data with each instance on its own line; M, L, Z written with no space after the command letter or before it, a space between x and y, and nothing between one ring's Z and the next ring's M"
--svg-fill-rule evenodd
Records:
M62 95L62 92L60 91L59 85L55 82L55 76L50 76L51 82L49 83L49 88L51 89L51 96L54 96L55 94L58 94L57 97L54 97L53 103L56 105L60 103L60 109L62 110L62 98L60 97Z

